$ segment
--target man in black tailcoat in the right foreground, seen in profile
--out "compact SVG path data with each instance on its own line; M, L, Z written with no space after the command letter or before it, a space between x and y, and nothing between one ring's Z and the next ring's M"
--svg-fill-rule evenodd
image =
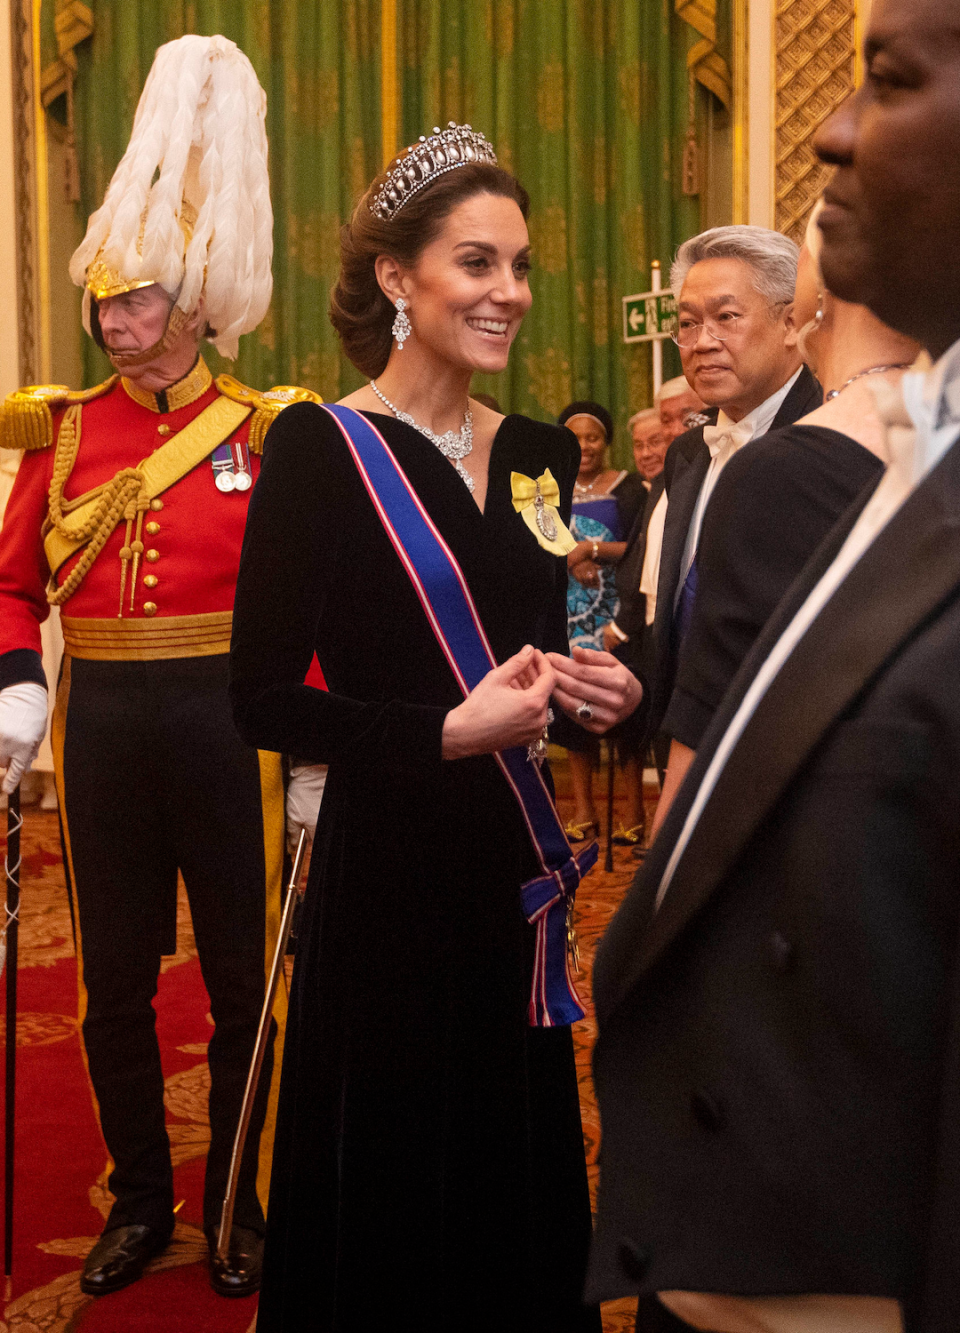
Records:
M829 289L936 364L880 403L883 477L773 613L600 945L588 1298L956 1333L960 0L876 0L819 151Z

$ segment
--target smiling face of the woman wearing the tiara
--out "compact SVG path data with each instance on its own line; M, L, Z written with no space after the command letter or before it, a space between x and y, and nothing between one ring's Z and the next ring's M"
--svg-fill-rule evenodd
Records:
M403 288L413 339L440 360L495 375L531 308L529 237L512 199L473 195L424 247Z

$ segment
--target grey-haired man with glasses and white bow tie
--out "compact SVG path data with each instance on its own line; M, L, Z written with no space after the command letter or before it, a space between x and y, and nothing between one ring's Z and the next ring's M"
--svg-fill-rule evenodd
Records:
M696 551L717 479L737 449L821 403L793 325L799 251L764 227L715 227L684 241L671 268L679 292L673 340L689 387L712 409L667 455L667 516L657 580L648 736L664 721L696 593ZM673 740L664 808L693 752ZM655 830L656 830L655 824Z

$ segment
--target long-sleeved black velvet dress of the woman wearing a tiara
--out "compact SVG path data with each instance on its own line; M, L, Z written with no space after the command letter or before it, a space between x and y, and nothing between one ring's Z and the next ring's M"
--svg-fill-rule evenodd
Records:
M481 513L451 464L371 416L473 592L499 661L567 651L567 564L511 503L568 431L508 417ZM303 684L313 651L329 693ZM489 756L444 762L461 701L332 419L272 427L233 623L241 736L329 764L297 940L259 1333L600 1329L568 1028L529 1029L536 862Z

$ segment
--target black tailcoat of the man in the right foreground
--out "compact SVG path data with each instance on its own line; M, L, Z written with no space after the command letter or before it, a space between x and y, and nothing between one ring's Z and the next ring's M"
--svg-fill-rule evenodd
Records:
M795 648L652 914L719 740L855 519L747 657L597 952L593 1298L868 1294L956 1329L960 444Z

